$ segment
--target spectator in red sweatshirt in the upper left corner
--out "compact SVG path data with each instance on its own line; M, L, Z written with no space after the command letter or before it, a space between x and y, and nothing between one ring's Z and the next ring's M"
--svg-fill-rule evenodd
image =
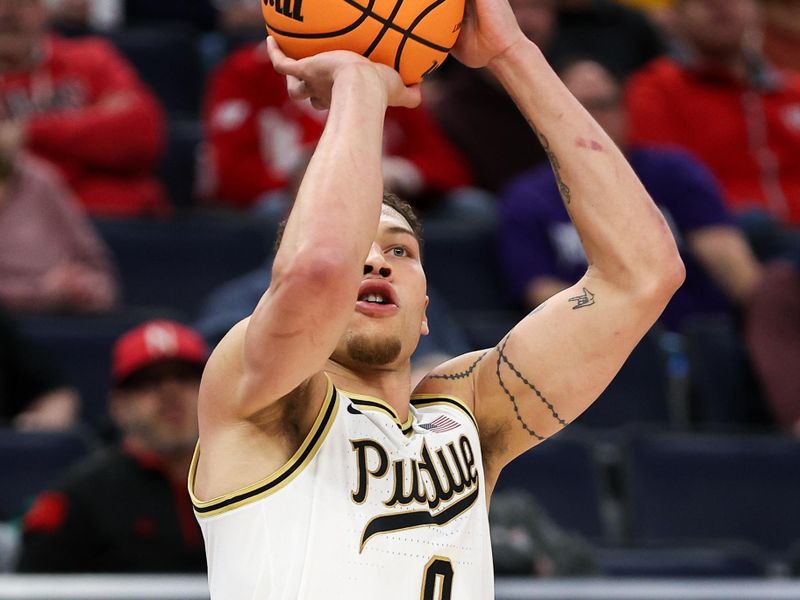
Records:
M106 42L47 32L43 0L0 0L0 140L61 171L98 216L166 211L162 111Z

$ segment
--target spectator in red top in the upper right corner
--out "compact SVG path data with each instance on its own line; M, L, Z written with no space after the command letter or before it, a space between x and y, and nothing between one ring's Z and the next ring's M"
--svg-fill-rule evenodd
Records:
M677 0L685 51L630 81L634 143L700 157L729 207L800 225L800 75L771 67L748 43L756 0Z

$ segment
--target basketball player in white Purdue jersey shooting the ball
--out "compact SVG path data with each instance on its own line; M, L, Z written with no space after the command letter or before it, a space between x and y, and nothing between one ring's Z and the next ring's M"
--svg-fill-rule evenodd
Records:
M590 267L412 395L425 273L416 220L382 199L381 133L387 105L419 90L355 54L294 61L269 40L292 95L330 116L272 285L203 377L190 487L214 600L493 598L503 466L592 403L683 280L661 213L508 1L470 2L463 27L454 56L530 121Z

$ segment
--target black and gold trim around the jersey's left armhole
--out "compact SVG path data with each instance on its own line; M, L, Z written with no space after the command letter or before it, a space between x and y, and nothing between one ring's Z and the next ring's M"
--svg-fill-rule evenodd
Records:
M325 401L322 403L319 415L317 415L311 431L308 432L306 439L297 449L297 452L272 475L252 484L241 488L230 494L218 496L213 500L199 500L194 495L194 483L197 475L197 463L200 459L200 443L195 447L192 464L189 468L189 496L192 500L195 514L200 518L212 517L224 512L231 511L265 498L274 494L284 486L288 485L300 472L308 466L314 459L317 451L322 446L328 432L336 418L339 407L339 394L328 378L328 390Z

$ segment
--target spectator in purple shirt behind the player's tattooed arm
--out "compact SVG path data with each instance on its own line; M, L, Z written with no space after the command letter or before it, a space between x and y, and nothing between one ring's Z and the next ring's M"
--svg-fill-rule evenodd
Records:
M737 305L746 306L761 269L709 171L678 150L628 147L621 85L601 65L574 60L561 69L561 76L626 153L678 241L686 282L664 311L662 324L680 331L689 316L729 314ZM575 140L578 147L589 143ZM508 281L527 307L538 306L586 271L580 239L549 168L529 171L504 190L500 227Z

